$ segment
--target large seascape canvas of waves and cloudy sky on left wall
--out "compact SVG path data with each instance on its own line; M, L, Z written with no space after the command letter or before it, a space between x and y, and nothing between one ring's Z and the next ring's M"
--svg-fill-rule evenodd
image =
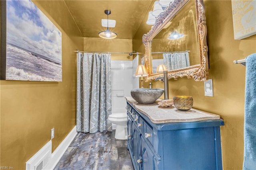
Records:
M31 0L1 0L1 80L62 81L62 33Z

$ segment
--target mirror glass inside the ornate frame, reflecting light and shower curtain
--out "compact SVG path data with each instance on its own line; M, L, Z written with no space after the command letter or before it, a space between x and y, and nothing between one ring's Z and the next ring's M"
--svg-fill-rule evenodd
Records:
M194 1L188 1L152 39L151 56L153 74L159 64L168 71L199 64Z

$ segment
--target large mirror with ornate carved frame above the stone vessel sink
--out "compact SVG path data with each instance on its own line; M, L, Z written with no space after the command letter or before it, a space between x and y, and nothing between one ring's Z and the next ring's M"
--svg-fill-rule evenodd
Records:
M157 18L151 30L143 35L146 81L163 76L156 72L164 64L168 78L187 76L207 80L208 47L203 0L173 0Z

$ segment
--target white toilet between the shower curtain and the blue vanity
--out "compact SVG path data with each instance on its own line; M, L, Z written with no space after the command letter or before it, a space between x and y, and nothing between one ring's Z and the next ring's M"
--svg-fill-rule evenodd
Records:
M127 113L112 113L108 116L111 123L116 124L116 139L127 139Z

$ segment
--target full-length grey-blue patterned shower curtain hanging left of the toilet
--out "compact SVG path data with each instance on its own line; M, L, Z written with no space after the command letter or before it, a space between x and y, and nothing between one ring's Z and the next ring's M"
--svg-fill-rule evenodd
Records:
M110 54L78 53L76 130L112 131Z

